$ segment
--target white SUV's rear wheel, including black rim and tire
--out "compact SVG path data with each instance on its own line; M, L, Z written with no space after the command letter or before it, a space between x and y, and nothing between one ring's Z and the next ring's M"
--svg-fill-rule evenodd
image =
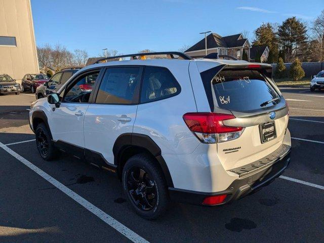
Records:
M133 155L126 161L121 178L132 208L148 220L164 215L170 204L168 185L157 163L148 153Z

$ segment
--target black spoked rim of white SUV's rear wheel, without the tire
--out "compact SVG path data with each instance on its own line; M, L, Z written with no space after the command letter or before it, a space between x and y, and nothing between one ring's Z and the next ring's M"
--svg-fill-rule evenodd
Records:
M152 210L156 205L157 189L152 177L140 167L132 167L127 176L127 189L132 202L140 210Z

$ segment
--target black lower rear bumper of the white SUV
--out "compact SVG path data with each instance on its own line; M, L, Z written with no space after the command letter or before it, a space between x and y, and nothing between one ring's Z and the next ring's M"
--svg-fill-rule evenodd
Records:
M183 190L177 188L169 188L170 198L181 203L201 205L205 197L213 195L227 194L222 204L229 204L234 200L244 197L252 192L261 189L263 186L271 183L275 178L284 173L290 163L290 148L289 151L271 166L266 167L254 174L245 176L244 178L236 179L224 191L220 192L197 192Z

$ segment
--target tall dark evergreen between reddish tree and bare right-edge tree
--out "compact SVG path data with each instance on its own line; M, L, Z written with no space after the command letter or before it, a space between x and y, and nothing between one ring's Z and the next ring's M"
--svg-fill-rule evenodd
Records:
M306 25L296 19L288 18L278 26L280 49L285 52L286 60L291 62L298 58L307 57Z

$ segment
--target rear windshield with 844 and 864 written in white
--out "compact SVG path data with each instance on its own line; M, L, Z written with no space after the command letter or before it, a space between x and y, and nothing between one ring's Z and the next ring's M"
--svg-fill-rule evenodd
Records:
M222 109L247 112L280 102L278 94L258 70L227 69L210 79L211 76L201 75L203 82L211 84L209 87L212 87L215 93L214 99L209 97L209 100L214 103L216 101L215 105ZM205 89L208 87L204 86ZM206 94L212 95L207 91Z

